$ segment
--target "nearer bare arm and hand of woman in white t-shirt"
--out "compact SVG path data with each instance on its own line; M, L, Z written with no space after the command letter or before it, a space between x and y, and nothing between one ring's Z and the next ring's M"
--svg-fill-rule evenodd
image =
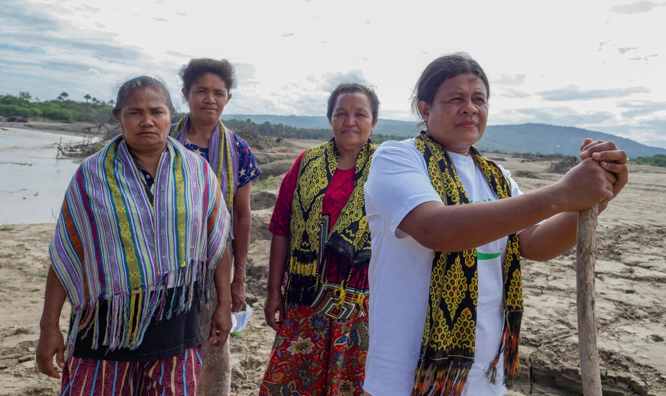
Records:
M399 228L426 248L460 252L525 230L555 214L578 212L612 199L611 186L599 164L583 160L561 180L527 194L468 205L426 202L405 216ZM566 221L555 228L575 230L567 216L563 219Z

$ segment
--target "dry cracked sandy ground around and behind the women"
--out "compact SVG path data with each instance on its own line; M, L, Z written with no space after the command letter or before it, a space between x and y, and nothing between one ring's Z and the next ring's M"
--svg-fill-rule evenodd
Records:
M248 260L248 302L255 315L231 339L233 395L256 395L274 331L263 303L270 234L266 231L280 180L294 154L312 142L286 141L281 153L259 154L269 170L254 185L253 230ZM275 151L275 150L274 150ZM491 154L513 171L527 192L560 176L547 162ZM272 161L272 162L271 162ZM520 172L519 172L520 171ZM531 172L531 173L530 173ZM55 395L59 381L38 373L35 347L43 303L47 246L53 224L0 230L0 395ZM630 182L599 218L597 316L604 395L666 395L666 169L631 166ZM575 254L545 263L524 262L525 318L522 376L509 392L579 395L575 313ZM61 329L67 329L67 308Z

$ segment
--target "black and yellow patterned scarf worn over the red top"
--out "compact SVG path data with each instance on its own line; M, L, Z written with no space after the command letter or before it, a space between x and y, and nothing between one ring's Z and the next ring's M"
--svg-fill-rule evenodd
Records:
M358 154L354 191L330 233L327 219L322 218L322 202L338 168L338 149L331 139L320 146L308 148L303 154L292 203L286 288L288 302L312 302L319 287L326 248L345 256L353 265L370 261L370 228L366 219L363 186L374 149L374 144L368 140ZM342 284L340 291L344 287Z

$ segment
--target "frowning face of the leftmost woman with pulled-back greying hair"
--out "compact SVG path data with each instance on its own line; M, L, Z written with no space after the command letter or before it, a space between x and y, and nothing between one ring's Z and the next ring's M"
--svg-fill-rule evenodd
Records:
M120 124L123 140L133 150L163 150L171 126L171 112L166 98L152 88L140 88L125 99L120 114L113 114Z

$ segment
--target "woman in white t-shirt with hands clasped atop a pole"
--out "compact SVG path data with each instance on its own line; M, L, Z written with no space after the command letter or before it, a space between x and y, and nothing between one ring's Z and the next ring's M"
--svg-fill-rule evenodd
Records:
M603 211L627 182L625 152L587 139L580 164L523 194L472 146L489 94L469 55L436 59L414 92L425 130L374 155L365 186L369 395L503 395L518 366L520 257L569 250L577 212Z

